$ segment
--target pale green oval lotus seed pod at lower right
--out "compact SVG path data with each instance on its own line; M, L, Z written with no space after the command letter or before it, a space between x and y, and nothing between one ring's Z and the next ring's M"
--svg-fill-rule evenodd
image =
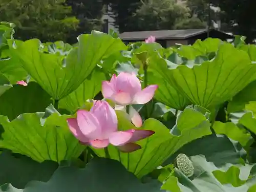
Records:
M190 159L185 154L179 154L176 157L174 165L187 177L194 174L194 166Z

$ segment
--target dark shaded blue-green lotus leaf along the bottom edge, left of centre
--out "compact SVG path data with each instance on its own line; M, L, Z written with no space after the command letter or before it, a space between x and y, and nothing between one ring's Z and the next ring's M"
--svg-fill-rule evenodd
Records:
M1 186L6 192L68 192L68 191L111 191L111 192L160 192L161 183L153 181L142 184L118 161L95 158L84 168L59 167L48 182L32 181L25 189L17 189L11 184Z

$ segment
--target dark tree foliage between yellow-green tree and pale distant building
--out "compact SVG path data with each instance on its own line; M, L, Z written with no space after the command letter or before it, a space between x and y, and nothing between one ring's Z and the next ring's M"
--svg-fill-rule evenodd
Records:
M72 13L79 19L79 27L69 37L69 42L76 41L82 33L91 33L92 30L102 30L102 15L104 2L102 0L67 0L67 5L72 7Z

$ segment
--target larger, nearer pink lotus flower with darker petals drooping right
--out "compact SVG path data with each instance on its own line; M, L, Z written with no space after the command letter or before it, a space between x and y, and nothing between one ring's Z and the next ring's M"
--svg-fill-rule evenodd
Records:
M109 144L117 146L122 152L133 152L141 148L134 143L154 134L148 130L117 130L117 116L106 101L96 101L89 111L78 110L77 118L67 119L69 129L81 143L95 148Z

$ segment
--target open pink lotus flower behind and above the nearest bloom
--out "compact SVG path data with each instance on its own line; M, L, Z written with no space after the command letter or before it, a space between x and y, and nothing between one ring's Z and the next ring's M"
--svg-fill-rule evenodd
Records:
M157 85L151 85L141 90L140 80L136 75L125 72L118 76L114 74L110 82L102 82L104 98L120 105L145 104L153 98L157 88Z

